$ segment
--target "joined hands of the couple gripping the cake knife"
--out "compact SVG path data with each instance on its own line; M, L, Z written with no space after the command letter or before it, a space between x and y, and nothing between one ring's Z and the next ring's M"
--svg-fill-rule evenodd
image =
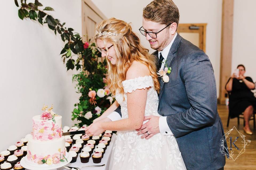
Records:
M86 129L85 129L85 133L90 136L90 135L93 135L93 136L98 136L99 134L101 134L103 131L105 131L106 129L103 129L102 128L102 123L104 122L110 122L110 118L106 117L106 118L103 118L102 120L98 120L94 123L92 123L90 126L87 126Z

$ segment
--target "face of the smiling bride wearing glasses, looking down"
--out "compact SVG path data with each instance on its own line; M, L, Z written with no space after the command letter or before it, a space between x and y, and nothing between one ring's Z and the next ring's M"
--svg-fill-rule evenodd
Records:
M111 64L115 65L116 62L117 62L117 57L116 57L116 53L115 53L115 49L114 49L114 46L113 44L107 42L106 43L106 47L103 43L102 40L98 39L97 40L97 45L98 47L101 49L101 56L102 57L106 57L107 56L107 50L106 50L106 47L108 48L108 56L107 56L107 60L109 60L111 62Z

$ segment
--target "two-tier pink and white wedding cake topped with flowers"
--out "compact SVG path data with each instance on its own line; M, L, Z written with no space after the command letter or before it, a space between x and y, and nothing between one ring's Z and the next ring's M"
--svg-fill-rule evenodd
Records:
M65 162L65 139L62 136L62 117L43 106L41 115L32 118L32 137L28 139L27 159L37 164Z

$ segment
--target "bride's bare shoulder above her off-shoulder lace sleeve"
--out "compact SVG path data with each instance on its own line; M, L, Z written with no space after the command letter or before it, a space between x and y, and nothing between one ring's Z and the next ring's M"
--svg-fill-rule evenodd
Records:
M126 72L126 80L144 77L149 74L149 67L144 63L133 61Z

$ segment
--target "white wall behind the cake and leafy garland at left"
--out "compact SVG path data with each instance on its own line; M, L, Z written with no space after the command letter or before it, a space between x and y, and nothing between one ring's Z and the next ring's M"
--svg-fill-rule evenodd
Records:
M20 3L20 1L18 1ZM31 1L32 2L32 1ZM81 1L40 0L53 7L54 18L82 32ZM32 130L32 117L41 114L43 104L54 104L62 125L73 125L71 112L79 99L72 75L59 56L63 41L38 22L18 17L14 1L5 1L0 11L0 151L14 145Z

